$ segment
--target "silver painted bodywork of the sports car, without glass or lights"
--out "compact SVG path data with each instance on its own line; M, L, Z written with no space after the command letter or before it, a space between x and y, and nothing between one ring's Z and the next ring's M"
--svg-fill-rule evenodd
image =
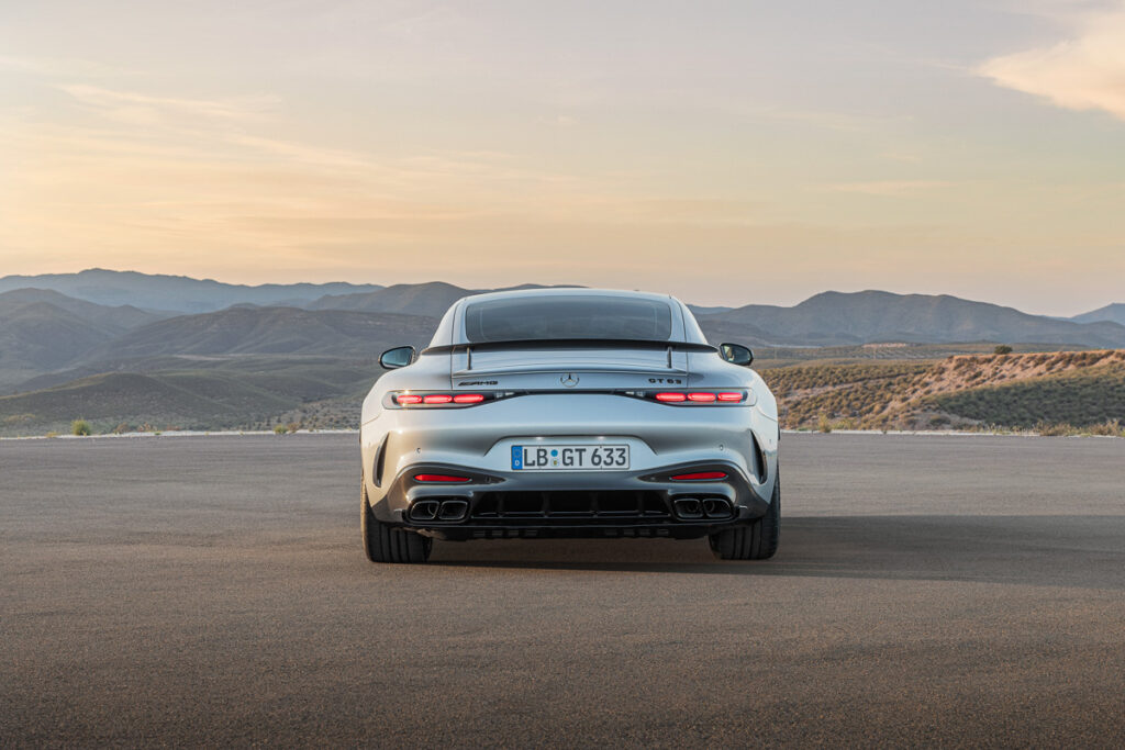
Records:
M467 343L465 307L500 296L573 295L574 289L493 292L464 298L443 316L430 347ZM582 289L583 296L609 295L662 299L673 310L672 338L706 344L691 310L680 300L644 292ZM376 484L375 462L382 449L382 476L394 478L418 464L446 464L485 473L511 471L510 449L533 441L588 441L630 446L631 473L656 471L688 462L729 462L753 493L768 501L777 477L777 405L757 372L724 361L718 352L631 349L519 349L471 354L423 352L414 363L384 374L363 401L360 444L363 480L377 517L402 523L405 504L392 503L390 480ZM564 380L576 380L564 383ZM682 382L676 382L682 381ZM674 406L598 391L605 389L746 388L750 397L739 406ZM550 391L462 408L387 408L393 390L471 389L489 391ZM560 392L564 391L564 392ZM766 458L765 481L750 470L750 434ZM615 472L600 472L605 488ZM578 476L582 475L582 476ZM544 488L588 488L588 472L526 472L524 482L539 479ZM381 486L380 486L381 485ZM757 504L759 507L760 504ZM760 515L745 506L738 517Z

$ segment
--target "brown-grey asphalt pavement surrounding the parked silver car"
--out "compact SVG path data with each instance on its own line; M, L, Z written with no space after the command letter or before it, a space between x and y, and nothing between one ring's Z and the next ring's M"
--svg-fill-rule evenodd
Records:
M1125 440L791 435L781 551L436 542L354 435L0 442L0 744L1125 744Z

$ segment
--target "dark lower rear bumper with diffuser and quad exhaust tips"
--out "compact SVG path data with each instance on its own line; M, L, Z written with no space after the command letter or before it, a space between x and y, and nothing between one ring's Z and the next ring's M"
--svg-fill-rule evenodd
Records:
M673 475L721 471L722 479ZM420 473L468 478L423 484ZM402 470L372 505L380 521L438 539L510 536L668 536L692 539L765 515L760 497L731 461L613 472L482 471L417 463Z

